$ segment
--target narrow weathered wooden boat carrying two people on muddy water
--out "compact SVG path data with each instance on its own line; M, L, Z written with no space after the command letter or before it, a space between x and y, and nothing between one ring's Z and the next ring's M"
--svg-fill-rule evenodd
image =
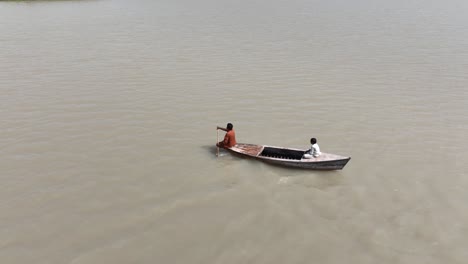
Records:
M243 143L227 150L270 164L311 170L341 170L351 159L351 157L323 152L317 158L304 159L302 156L305 150Z

